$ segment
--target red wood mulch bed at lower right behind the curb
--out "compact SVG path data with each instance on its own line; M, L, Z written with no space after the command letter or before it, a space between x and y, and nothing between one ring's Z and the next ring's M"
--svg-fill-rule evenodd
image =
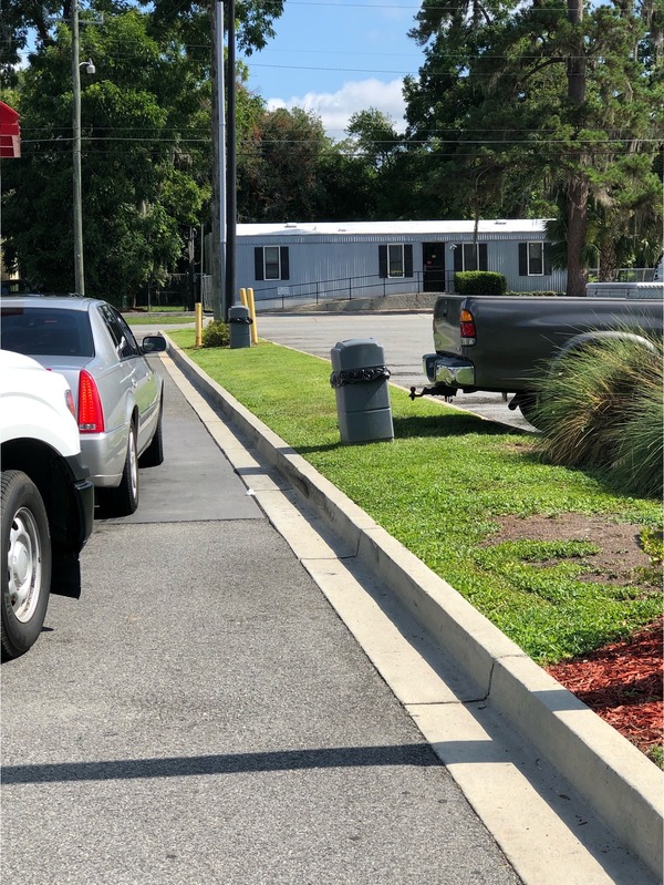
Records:
M662 619L631 639L547 671L642 752L662 747Z

